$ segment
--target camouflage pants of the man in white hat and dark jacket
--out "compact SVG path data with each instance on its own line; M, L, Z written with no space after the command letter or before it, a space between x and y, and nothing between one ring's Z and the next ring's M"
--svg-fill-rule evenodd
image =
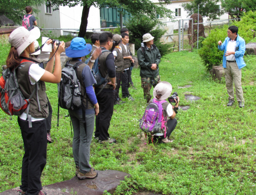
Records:
M141 78L141 87L143 88L144 99L151 99L150 89L152 87L152 80L154 80L153 87L161 82L160 76Z

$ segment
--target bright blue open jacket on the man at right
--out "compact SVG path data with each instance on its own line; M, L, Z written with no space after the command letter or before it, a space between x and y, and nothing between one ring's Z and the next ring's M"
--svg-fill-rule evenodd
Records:
M223 67L226 68L226 64L227 64L227 60L226 60L226 56L225 53L227 51L227 46L229 43L230 38L226 38L224 43L222 43L222 45L218 45L218 49L220 51L224 50L224 54L223 54ZM244 63L243 61L243 55L244 52L246 51L246 42L243 40L243 38L239 37L239 35L237 35L237 42L236 42L236 51L235 51L235 58L237 61L237 66L239 69L241 69L242 67L246 66L246 63Z

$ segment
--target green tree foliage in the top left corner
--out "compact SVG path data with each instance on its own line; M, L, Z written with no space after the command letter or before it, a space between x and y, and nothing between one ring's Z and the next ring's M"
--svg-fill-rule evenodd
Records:
M31 6L33 12L38 13L39 10L34 9L34 5L41 5L44 0L0 0L0 15L5 15L13 20L15 24L21 25L21 18L26 14L25 7Z

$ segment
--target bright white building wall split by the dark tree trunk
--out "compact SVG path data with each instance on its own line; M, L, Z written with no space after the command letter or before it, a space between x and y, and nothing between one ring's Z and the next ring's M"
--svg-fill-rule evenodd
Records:
M60 6L60 27L62 29L79 29L81 25L81 17L83 7L77 5L75 7ZM87 29L101 28L99 20L99 8L92 6L88 16Z

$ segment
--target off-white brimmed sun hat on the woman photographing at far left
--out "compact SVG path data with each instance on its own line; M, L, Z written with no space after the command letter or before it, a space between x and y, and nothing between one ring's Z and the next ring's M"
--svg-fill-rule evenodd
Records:
M32 42L40 37L40 30L38 27L28 31L24 27L16 28L9 36L9 43L17 49L20 55Z

